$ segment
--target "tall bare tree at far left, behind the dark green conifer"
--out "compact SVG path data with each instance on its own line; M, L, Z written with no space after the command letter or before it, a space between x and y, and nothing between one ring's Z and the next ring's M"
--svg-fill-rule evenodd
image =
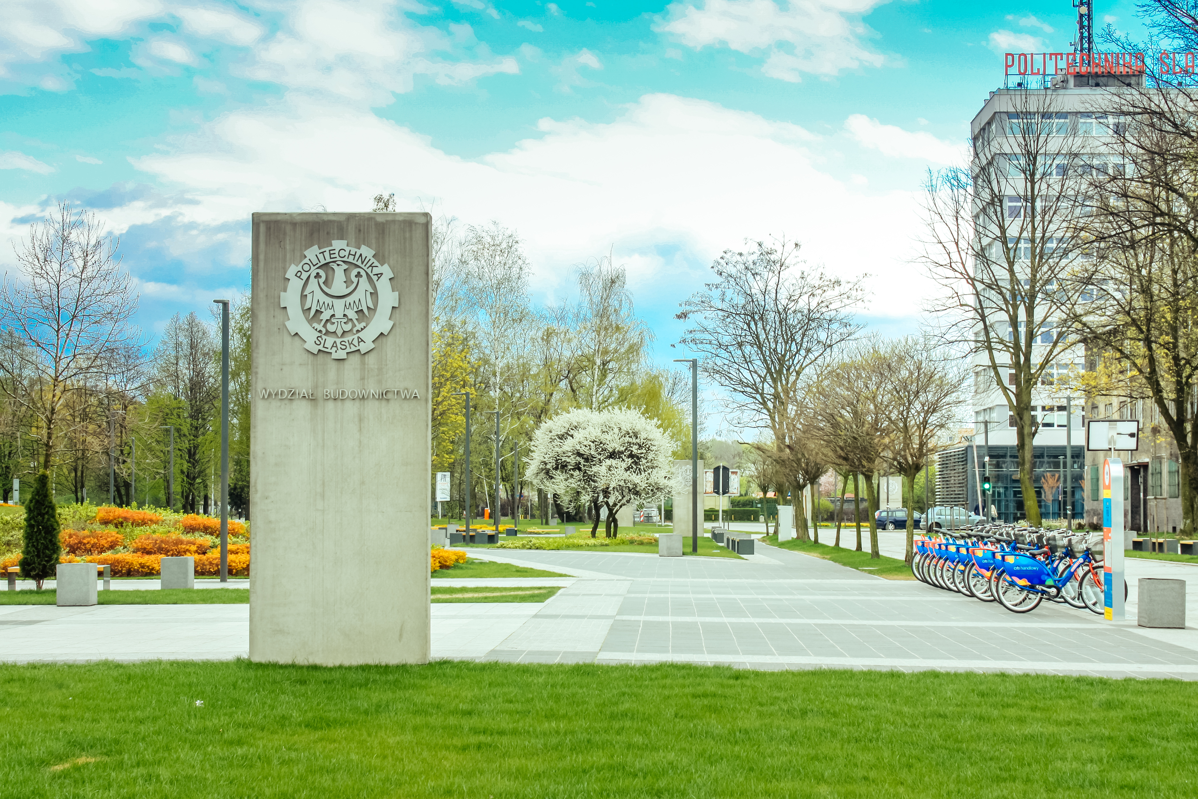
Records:
M131 323L138 297L117 246L93 213L60 202L30 225L16 248L20 273L6 274L0 286L0 322L16 333L0 357L8 377L0 388L36 419L32 436L47 472L63 405L111 380L140 347Z

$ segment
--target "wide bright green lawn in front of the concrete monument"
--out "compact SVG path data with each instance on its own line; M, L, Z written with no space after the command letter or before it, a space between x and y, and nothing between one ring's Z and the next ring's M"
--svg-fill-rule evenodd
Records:
M31 799L1198 793L1198 684L1168 680L102 662L0 666L0 707Z

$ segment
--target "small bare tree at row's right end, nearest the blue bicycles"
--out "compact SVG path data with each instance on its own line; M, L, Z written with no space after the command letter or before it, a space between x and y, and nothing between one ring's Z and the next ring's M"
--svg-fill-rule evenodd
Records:
M908 335L885 346L883 380L889 402L890 448L887 460L903 478L910 500L907 513L906 559L910 563L915 537L915 477L949 440L964 405L962 386L968 371L960 359L938 350L926 338Z

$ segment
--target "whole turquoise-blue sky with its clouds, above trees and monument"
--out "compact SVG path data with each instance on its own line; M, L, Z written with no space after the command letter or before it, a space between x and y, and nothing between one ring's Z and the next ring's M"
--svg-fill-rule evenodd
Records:
M120 234L151 334L248 287L253 211L491 219L539 299L629 268L662 361L678 302L744 238L914 331L919 186L960 158L1004 52L1069 49L1070 2L604 0L0 4L0 267L61 198ZM1129 2L1100 24L1135 28Z

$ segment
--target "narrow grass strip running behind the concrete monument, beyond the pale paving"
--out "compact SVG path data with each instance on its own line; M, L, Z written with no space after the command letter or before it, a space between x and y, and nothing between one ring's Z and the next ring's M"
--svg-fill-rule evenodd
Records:
M530 569L534 571L536 569ZM547 574L547 573L546 573ZM561 588L455 588L432 586L435 603L543 603ZM471 594L470 598L461 594ZM484 595L485 594L485 595ZM249 588L167 588L151 591L98 591L101 605L244 605L249 603ZM46 591L0 591L0 605L53 605L58 593ZM2 655L0 655L2 658Z

